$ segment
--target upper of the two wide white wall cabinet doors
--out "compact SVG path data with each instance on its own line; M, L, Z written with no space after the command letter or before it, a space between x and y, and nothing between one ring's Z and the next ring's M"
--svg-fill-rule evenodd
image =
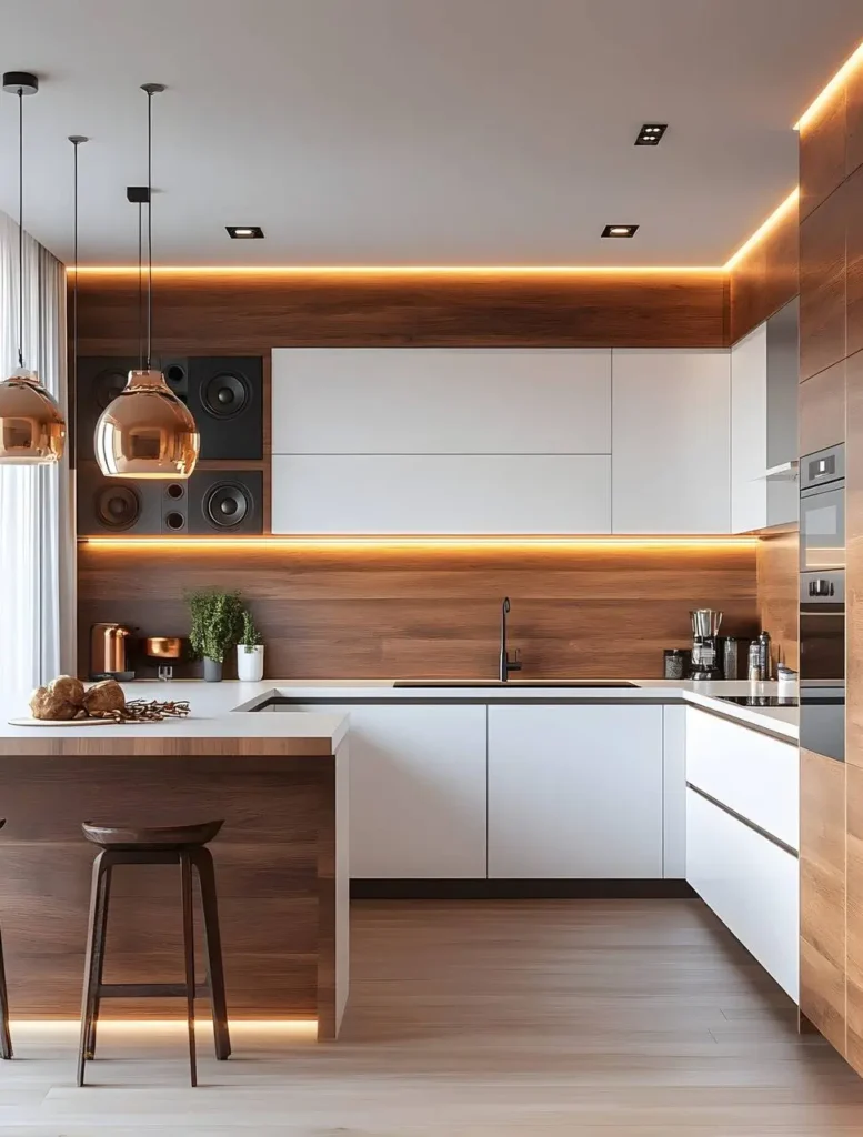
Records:
M274 454L609 454L608 348L276 348Z

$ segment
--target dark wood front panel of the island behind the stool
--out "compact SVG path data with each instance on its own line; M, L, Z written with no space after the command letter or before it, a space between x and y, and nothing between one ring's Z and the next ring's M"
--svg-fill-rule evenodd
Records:
M98 730L98 728L96 728ZM131 728L130 731L146 731ZM189 823L224 818L211 843L231 1018L317 1018L338 1034L335 777L339 757L260 756L165 739L0 740L7 824L0 911L13 1014L72 1018L81 1006L90 874L81 822ZM277 745L277 740L271 740ZM155 749L165 753L153 756ZM225 755L226 749L234 749ZM124 754L117 753L124 750ZM146 754L135 756L134 750ZM213 752L221 749L221 754ZM90 753L88 753L90 752ZM347 770L339 772L342 779ZM197 889L197 885L196 885ZM342 899L347 921L347 902ZM196 903L196 943L201 945ZM111 881L106 982L181 981L179 866L121 866ZM198 974L205 974L202 958ZM182 1016L182 1001L107 999L106 1018Z

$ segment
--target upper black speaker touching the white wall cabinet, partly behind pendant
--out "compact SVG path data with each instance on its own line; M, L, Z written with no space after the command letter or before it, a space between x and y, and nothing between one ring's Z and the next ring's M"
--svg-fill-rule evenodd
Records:
M188 404L200 431L201 458L262 459L264 360L260 356L191 356L171 363L177 370L177 382L183 363L188 365ZM163 371L165 367L163 362ZM165 374L167 377L166 371Z

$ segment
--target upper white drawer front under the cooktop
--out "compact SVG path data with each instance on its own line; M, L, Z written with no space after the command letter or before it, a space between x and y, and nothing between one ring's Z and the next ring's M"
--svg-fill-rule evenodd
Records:
M687 781L791 848L799 848L795 745L687 708Z

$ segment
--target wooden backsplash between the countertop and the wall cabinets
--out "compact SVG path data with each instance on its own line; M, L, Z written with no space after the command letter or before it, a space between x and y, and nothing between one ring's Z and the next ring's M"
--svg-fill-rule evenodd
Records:
M82 543L81 673L92 623L183 636L184 596L213 586L242 592L264 637L266 674L285 679L495 675L504 596L525 679L658 678L663 648L690 644L694 607L721 608L730 636L758 630L754 545L294 551ZM227 674L233 667L229 659Z

